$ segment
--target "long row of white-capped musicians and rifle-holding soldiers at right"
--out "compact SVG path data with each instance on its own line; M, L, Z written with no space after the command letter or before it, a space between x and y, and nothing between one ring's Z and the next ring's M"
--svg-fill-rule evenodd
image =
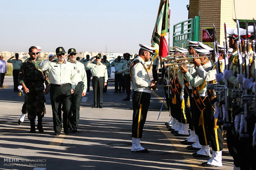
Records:
M171 120L166 123L166 127L175 136L188 136L182 143L188 145L188 150L195 151L192 154L194 157L211 156L211 159L202 163L203 166L208 167L222 167L225 130L228 150L234 159L234 170L249 170L256 167L256 114L255 109L251 109L250 112L247 111L249 113L247 117L244 115L241 96L245 91L250 94L256 91L256 83L254 83L254 57L256 56L251 43L254 34L251 33L250 38L246 39L245 31L240 28L242 49L239 49L236 29L228 28L227 30L229 38L227 50L221 45L218 45L218 51L216 51L217 48L213 49L201 42L188 41L187 49L176 46L173 51L170 51L171 57L164 59L168 63L165 64L165 95L171 114ZM246 43L248 43L247 48L244 47ZM244 76L244 71L243 73L238 71L239 56L243 57L243 69L246 69L245 53L249 56L250 73L247 73L250 74L249 79ZM216 71L215 54L218 54L220 73ZM225 69L225 55L228 56L226 61L229 69ZM197 58L179 60L186 57ZM217 92L211 85L217 82L224 85L225 80L229 83L228 95L224 92L216 95ZM232 96L231 94L235 94L235 90L240 86L243 87L241 96ZM224 99L225 95L230 101L228 112L225 112L225 102L221 105L222 101L218 99L218 96ZM253 100L254 98L251 98L251 103L247 104L247 110L255 108ZM225 119L224 127L221 121L218 121L218 119L224 119L220 117L221 112L224 118L224 113L228 113L230 119L229 122ZM190 136L188 129L190 129ZM246 137L244 137L245 129L248 133Z

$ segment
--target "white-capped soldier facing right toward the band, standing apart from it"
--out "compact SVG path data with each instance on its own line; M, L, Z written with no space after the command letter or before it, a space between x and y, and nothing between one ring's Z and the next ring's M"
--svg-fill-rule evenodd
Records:
M132 152L148 153L149 151L140 145L143 126L147 117L150 103L151 89L156 90L156 82L151 82L145 62L147 62L156 48L140 44L139 55L130 65L130 75L133 92L133 127L132 127Z

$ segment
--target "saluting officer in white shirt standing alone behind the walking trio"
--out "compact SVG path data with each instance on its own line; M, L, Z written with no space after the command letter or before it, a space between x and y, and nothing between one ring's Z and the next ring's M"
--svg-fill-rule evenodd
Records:
M96 60L96 63L93 61ZM101 55L93 57L91 61L85 63L85 67L92 69L92 89L93 89L93 106L92 108L103 108L103 86L107 85L108 75L107 67L101 63Z

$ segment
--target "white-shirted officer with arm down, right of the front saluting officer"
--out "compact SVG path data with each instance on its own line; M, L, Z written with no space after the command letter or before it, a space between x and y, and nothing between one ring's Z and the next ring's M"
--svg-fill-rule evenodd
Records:
M69 112L69 115L71 116L69 123L73 133L77 132L80 117L80 103L82 97L86 95L87 89L87 76L85 72L85 66L82 62L76 60L76 54L77 53L75 48L70 48L68 50L68 62L73 64L73 68L76 73L76 77L73 79L73 82L77 84L74 93L71 94L71 109Z

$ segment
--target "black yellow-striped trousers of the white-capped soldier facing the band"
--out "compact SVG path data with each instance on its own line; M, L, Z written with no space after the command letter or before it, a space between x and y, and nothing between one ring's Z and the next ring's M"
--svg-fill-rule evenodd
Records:
M133 92L133 126L132 137L142 138L143 127L147 118L150 103L150 93Z

